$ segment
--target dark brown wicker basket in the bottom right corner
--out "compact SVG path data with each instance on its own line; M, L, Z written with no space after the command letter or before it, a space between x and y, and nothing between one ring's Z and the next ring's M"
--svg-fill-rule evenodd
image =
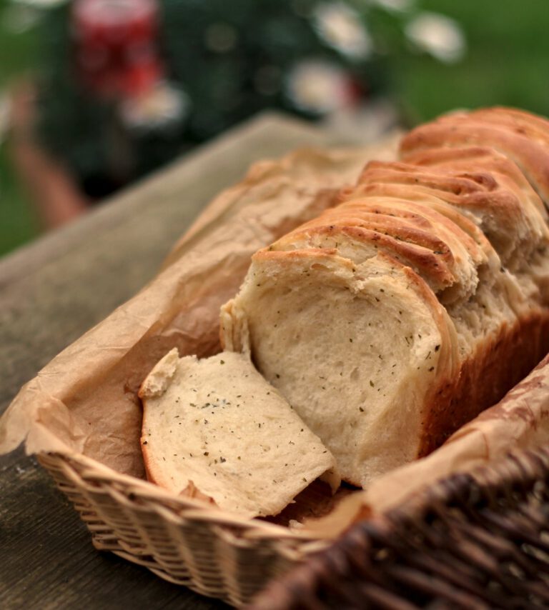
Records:
M355 526L254 610L548 608L549 447L450 476Z

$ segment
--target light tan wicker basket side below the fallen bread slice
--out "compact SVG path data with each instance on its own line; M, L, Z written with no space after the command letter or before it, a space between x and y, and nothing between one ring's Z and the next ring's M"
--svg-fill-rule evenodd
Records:
M328 544L282 526L231 518L192 499L159 499L156 486L109 477L89 459L56 453L38 459L74 504L97 549L233 606L246 604L268 581Z

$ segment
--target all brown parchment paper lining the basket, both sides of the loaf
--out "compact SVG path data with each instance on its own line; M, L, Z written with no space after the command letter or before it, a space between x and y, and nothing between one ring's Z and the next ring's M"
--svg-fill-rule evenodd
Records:
M137 389L152 366L175 346L181 355L219 350L219 307L236 293L254 251L334 204L340 187L353 183L369 159L394 159L396 143L397 136L364 149L304 149L252 166L209 204L148 286L21 389L0 419L0 454L24 442L29 454L77 453L143 478ZM347 496L306 529L337 536L359 516L390 509L447 474L548 440L545 359L440 449Z

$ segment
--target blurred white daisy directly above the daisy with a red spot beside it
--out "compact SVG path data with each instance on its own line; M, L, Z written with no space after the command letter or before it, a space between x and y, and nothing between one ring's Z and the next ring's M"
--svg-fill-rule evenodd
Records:
M344 2L320 3L312 19L320 38L337 51L355 59L372 53L372 39L360 14Z

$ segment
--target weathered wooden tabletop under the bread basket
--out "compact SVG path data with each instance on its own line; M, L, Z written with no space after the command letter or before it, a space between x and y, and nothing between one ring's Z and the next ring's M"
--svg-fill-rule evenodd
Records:
M330 134L264 114L0 261L0 413L19 387L157 271L218 191L257 159ZM46 471L0 456L0 608L217 608L218 601L101 554Z

